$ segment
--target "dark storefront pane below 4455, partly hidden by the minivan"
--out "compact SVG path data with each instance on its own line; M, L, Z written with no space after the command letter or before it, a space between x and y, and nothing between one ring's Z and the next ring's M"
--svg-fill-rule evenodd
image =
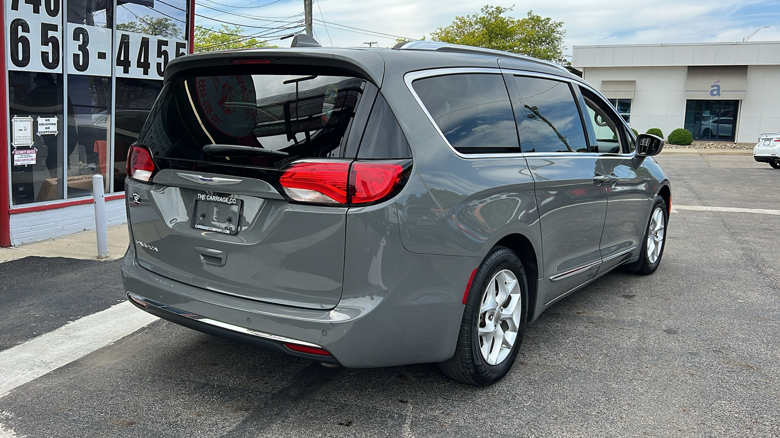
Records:
M114 192L125 189L127 151L138 139L149 110L162 90L161 80L116 78L114 122Z

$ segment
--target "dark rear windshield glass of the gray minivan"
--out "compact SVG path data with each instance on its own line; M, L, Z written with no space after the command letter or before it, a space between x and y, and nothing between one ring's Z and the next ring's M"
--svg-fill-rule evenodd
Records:
M303 158L345 157L365 85L315 74L174 78L138 143L161 168L255 178Z

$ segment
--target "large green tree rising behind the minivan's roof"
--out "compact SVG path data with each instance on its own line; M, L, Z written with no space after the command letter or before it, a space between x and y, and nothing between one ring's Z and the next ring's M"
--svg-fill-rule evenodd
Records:
M562 21L537 16L533 11L523 19L505 16L512 8L486 5L480 13L456 16L449 26L439 27L431 39L451 44L510 51L569 65L563 58Z

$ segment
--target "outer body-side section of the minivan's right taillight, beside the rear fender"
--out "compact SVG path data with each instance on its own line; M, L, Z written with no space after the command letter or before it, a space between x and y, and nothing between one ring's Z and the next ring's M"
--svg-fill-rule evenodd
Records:
M352 203L371 203L381 200L401 181L403 167L399 164L356 162L349 172L349 190Z

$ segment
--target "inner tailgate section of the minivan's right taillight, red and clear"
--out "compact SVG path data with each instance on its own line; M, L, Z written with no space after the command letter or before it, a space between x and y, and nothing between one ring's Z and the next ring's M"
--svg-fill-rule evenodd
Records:
M279 184L296 201L346 204L347 175L347 161L304 161L287 169Z

